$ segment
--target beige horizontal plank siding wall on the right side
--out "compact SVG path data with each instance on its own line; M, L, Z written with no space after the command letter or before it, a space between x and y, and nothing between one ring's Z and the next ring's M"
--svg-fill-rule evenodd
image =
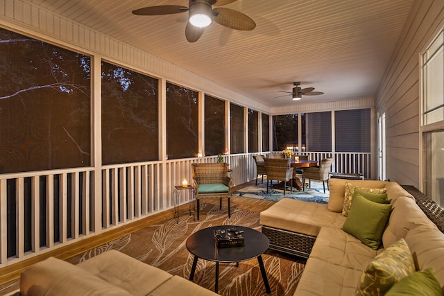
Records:
M420 188L420 51L444 22L444 1L415 1L377 92L386 113L386 177Z

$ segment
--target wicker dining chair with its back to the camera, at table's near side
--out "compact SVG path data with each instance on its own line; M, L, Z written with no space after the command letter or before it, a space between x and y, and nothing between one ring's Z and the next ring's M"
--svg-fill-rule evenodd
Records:
M287 181L290 182L290 191L293 191L293 168L291 167L291 159L289 158L265 158L265 170L266 170L266 192L268 192L268 180L271 180L273 186L273 180L284 182L284 195L285 185Z

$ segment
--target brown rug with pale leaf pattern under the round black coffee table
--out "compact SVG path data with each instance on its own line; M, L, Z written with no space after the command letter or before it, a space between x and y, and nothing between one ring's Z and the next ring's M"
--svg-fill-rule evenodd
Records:
M192 216L182 214L179 223L176 223L173 218L165 220L164 223L148 226L68 261L76 264L106 250L115 249L173 275L188 279L194 256L189 254L185 242L190 234L215 225L240 225L260 231L259 213L232 207L231 218L228 218L226 207L219 210L219 205L205 203L200 207L199 221L194 220ZM221 263L219 265L219 294L293 295L305 262L271 250L263 254L262 259L271 294L266 293L257 259L240 262L239 267L236 267L235 263ZM214 290L215 269L215 263L199 259L194 282Z

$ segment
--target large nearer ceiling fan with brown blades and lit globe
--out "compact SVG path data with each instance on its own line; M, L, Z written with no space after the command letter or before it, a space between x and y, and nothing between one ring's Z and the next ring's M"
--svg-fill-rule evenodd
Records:
M234 30L250 31L256 26L255 21L244 13L230 8L212 8L224 6L237 0L189 0L188 7L179 5L148 6L133 10L134 15L171 15L188 11L185 37L188 42L196 42L202 36L206 26L212 21Z

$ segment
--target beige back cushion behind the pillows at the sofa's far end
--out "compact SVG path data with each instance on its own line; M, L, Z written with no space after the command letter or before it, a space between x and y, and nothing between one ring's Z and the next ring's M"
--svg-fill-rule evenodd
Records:
M336 178L330 179L329 180L330 197L328 199L328 209L330 211L334 211L337 213L342 212L344 206L345 183L351 183L358 187L384 188L386 187L386 185L395 182L386 182L378 180L345 180L345 179L336 179ZM390 196L388 198L390 198Z

